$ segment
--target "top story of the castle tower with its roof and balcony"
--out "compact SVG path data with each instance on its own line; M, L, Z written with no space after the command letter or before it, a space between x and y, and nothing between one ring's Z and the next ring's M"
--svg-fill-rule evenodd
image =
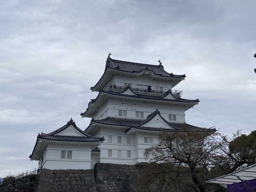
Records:
M174 75L164 70L159 60L159 65L149 65L107 58L104 74L97 84L91 87L92 91L121 92L130 86L133 92L164 95L169 89L180 83L186 77ZM181 97L182 91L173 90L175 96Z

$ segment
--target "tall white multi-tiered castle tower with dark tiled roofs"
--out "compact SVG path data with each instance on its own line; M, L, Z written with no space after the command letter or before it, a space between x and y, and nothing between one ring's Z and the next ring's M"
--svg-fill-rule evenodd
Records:
M182 99L173 87L184 80L159 65L134 63L110 58L104 74L92 91L92 99L82 117L92 118L85 133L103 137L93 162L137 164L145 162L144 150L158 143L158 133L175 132L184 127L199 132L214 132L186 124L185 111L199 100Z

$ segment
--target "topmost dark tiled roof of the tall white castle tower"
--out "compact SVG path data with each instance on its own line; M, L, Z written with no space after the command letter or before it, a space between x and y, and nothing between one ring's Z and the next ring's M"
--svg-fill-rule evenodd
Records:
M131 73L140 73L141 71L147 70L152 71L155 75L165 76L165 77L172 77L172 78L179 78L179 77L186 77L184 75L173 75L172 73L168 73L164 70L163 65L149 65L143 63L134 63L130 61L121 61L108 58L106 62L107 67L116 69L118 71L125 71Z

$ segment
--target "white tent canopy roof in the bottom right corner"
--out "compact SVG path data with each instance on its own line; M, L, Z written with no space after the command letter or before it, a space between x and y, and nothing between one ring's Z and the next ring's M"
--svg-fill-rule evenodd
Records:
M243 182L244 180L251 180L255 178L256 178L256 164L246 167L244 169L240 169L236 172L223 175L221 177L217 177L215 179L212 179L206 182L218 183L223 187L227 188L227 184Z

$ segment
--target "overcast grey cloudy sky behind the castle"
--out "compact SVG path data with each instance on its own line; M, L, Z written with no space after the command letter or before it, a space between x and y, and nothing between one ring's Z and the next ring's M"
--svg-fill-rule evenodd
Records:
M38 132L70 117L88 126L80 112L108 52L186 73L174 89L200 99L188 124L255 129L254 0L0 2L0 177L37 166L28 156Z

